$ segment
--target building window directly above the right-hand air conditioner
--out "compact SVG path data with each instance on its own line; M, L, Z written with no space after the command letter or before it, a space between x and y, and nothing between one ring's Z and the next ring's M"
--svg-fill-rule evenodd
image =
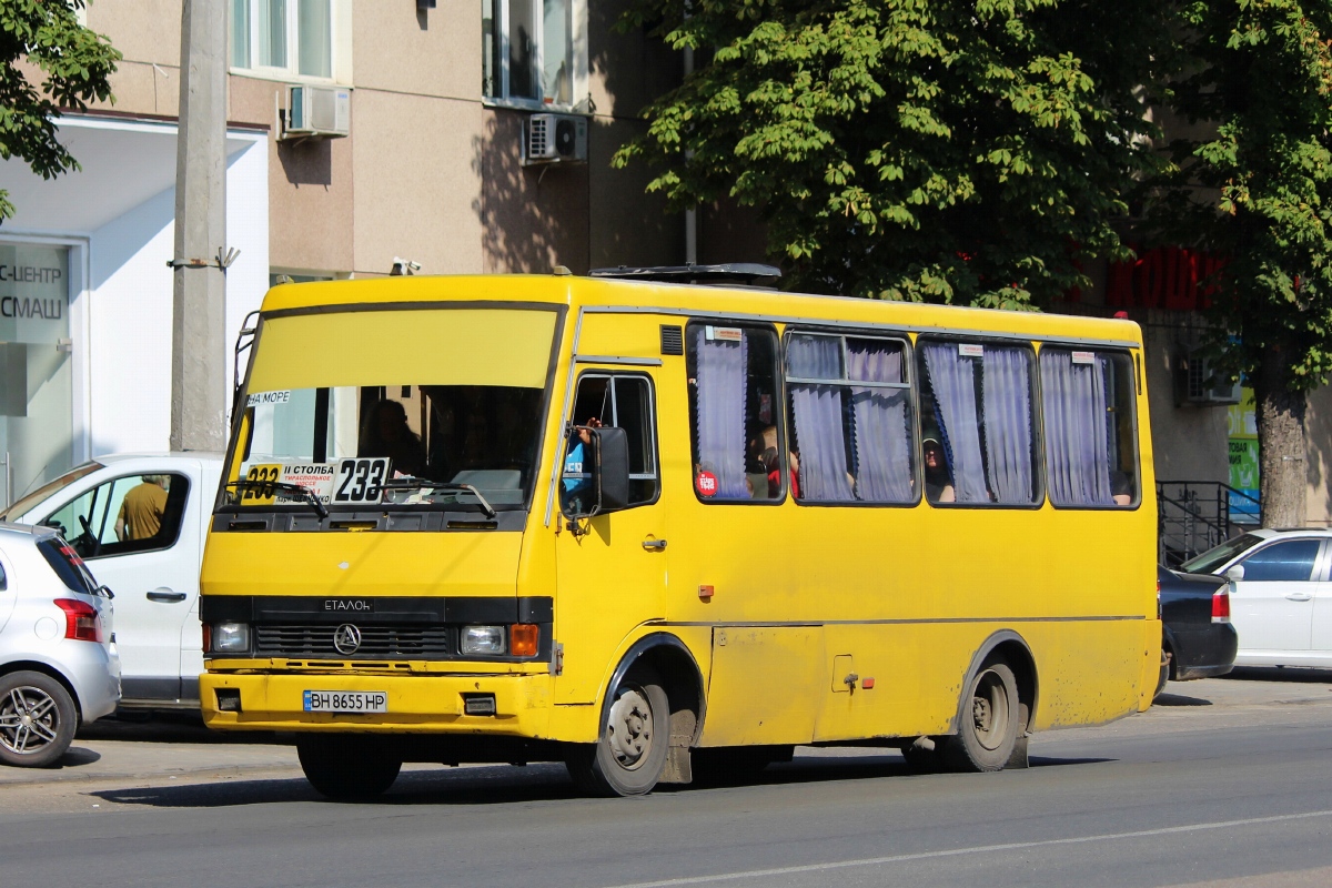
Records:
M481 0L482 92L573 108L586 95L585 0Z

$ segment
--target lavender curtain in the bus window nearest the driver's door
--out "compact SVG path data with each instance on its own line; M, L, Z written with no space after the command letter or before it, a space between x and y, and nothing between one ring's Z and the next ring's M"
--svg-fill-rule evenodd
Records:
M709 341L697 329L698 462L717 477L718 499L749 499L745 487L745 370L749 337Z

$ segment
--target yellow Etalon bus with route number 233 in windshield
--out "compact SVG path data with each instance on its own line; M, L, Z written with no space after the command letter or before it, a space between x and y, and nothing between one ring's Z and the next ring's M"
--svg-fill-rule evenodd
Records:
M996 771L1148 707L1135 324L677 277L272 289L209 727L297 732L334 797L543 760L635 795L809 744Z

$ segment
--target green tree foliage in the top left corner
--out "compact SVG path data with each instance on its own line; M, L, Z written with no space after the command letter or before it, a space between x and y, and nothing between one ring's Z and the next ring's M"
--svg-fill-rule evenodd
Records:
M84 0L0 0L0 158L20 157L43 178L79 169L56 138L60 112L112 99L120 53L79 24L83 7ZM13 213L0 189L0 221Z

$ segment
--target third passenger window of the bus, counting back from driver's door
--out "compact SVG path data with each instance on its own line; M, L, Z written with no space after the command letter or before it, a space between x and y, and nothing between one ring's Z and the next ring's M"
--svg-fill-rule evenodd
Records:
M971 506L1038 502L1031 349L922 339L919 354L926 497Z

